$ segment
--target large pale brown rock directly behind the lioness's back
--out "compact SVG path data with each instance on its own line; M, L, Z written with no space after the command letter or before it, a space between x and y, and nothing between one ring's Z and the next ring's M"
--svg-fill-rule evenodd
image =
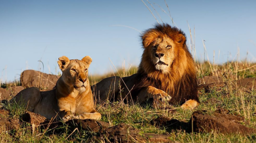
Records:
M21 86L38 87L40 89L53 89L57 80L60 78L58 75L47 74L34 70L26 70L20 75Z

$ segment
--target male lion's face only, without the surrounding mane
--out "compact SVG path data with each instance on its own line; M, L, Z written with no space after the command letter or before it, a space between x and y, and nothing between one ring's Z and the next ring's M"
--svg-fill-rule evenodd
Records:
M175 42L168 36L157 37L149 48L151 48L151 59L155 70L168 72L175 58Z

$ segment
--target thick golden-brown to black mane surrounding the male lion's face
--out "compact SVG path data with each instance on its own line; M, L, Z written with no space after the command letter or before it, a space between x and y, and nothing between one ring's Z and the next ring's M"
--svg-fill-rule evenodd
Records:
M157 71L150 63L150 48L155 38L169 36L176 41L175 58L168 72ZM172 104L182 104L188 99L197 102L196 67L192 55L186 45L186 35L183 31L168 24L157 24L141 35L143 54L138 67L137 85L132 94L146 86L153 86L171 95Z

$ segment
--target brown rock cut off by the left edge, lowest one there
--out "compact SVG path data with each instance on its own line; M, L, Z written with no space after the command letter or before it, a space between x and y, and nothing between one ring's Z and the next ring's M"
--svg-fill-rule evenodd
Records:
M1 118L0 119L0 133L8 132L10 130L18 130L19 122L14 119Z

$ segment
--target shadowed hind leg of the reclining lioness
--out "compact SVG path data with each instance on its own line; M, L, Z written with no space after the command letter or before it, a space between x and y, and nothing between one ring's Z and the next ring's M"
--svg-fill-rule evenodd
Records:
M18 105L26 107L28 111L33 111L40 99L39 88L31 87L20 91L10 102L16 102Z

